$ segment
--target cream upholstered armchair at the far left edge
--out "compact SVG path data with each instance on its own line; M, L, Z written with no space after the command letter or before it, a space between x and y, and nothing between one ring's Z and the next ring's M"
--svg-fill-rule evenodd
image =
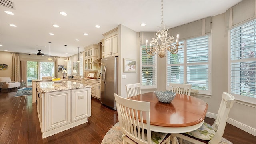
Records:
M9 89L17 87L20 88L20 82L12 81L10 77L0 77L0 89Z

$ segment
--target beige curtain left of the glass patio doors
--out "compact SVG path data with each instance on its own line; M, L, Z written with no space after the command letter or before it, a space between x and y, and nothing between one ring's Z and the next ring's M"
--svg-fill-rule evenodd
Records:
M19 54L12 54L12 80L20 80L20 58Z

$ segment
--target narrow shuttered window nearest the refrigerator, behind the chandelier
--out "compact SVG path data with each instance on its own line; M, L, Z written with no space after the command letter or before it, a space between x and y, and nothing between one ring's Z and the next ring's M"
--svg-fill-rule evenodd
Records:
M141 88L156 88L156 54L150 56L146 53L146 45L141 45Z

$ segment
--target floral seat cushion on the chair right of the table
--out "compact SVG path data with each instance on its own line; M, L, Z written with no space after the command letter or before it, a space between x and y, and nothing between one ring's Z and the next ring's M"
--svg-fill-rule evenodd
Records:
M210 124L204 122L200 128L192 132L186 132L186 134L193 136L195 138L199 138L201 140L211 140L216 134L216 132L214 131Z

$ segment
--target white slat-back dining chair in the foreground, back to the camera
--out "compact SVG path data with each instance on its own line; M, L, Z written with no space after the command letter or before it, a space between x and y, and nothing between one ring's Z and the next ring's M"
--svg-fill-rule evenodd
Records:
M114 96L123 144L170 144L170 134L150 130L150 102Z

